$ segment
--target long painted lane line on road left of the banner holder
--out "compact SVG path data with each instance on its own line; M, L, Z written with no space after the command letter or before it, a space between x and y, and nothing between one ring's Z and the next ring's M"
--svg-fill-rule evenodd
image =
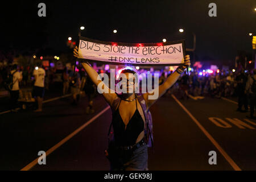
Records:
M73 131L71 134L69 134L67 137L65 137L63 140L61 140L59 143L55 144L55 146L51 147L48 151L46 151L46 156L51 154L53 151L55 151L57 148L59 148L65 142L67 142L69 139L74 137L77 133L79 133L82 129L84 129L86 126L88 126L90 123L92 123L95 119L100 117L100 115L105 113L105 111L107 111L108 109L110 109L110 106L106 107L104 110L102 110L100 113L98 113L92 119L90 119L88 122L84 123L84 125L80 126L78 129ZM38 164L38 159L39 159L39 157L36 158L35 160L33 160L31 163L27 164L27 166L25 166L24 168L20 169L20 171L28 171L29 169L34 167L36 164Z

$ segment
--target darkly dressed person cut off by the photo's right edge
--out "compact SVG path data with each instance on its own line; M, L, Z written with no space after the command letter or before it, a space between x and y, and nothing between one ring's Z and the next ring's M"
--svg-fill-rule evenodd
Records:
M253 70L253 75L248 77L246 82L245 94L249 94L250 99L250 117L254 117L254 109L256 109L256 69Z

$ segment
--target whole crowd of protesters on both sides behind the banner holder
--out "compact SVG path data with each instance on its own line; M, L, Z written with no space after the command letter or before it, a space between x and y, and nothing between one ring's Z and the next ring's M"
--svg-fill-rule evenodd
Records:
M55 68L39 68L35 67L18 67L12 65L11 67L0 68L0 86L5 86L5 80L10 74L13 74L13 88L9 88L11 96L11 109L16 106L19 97L19 86L24 88L26 86L34 86L33 96L38 101L38 109L42 111L42 98L44 97L44 88L49 90L49 85L52 84L55 75ZM39 73L40 72L40 73ZM99 73L106 72L104 69L98 70ZM162 84L165 78L172 72L160 71L159 84ZM61 82L63 95L72 94L72 104L77 105L79 102L81 91L84 91L88 97L88 106L86 113L94 113L93 98L96 96L97 88L93 85L92 81L84 69L77 69L74 72L74 66L71 68L64 67L61 72ZM200 100L205 97L221 98L221 97L238 97L237 111L247 111L248 105L254 108L256 97L256 86L254 90L254 78L256 79L256 72L253 73L241 69L240 71L193 71L183 73L176 84L168 90L167 94L173 93L174 90L180 94L181 99L191 98L193 100ZM39 78L40 77L40 78ZM40 80L40 81L39 81ZM256 83L256 82L255 82ZM256 95L256 93L255 93ZM244 109L244 110L243 110ZM253 117L253 112L251 112Z

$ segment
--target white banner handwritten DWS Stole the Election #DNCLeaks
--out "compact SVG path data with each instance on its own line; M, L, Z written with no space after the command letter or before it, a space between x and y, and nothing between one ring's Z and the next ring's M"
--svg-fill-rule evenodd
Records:
M106 64L177 65L183 64L183 43L155 46L126 46L119 43L98 43L80 40L79 59L103 61Z

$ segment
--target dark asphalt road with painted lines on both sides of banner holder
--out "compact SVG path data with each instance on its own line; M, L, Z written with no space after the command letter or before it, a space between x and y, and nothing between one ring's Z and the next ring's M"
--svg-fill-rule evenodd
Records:
M87 115L85 97L78 106L70 102L47 102L42 113L1 114L0 170L109 170L104 155L112 119L108 104L97 96L95 113ZM150 109L149 170L255 170L256 121L236 109L234 102L217 98L160 98ZM46 165L37 163L39 151L47 152ZM210 151L216 152L217 164L209 164Z

